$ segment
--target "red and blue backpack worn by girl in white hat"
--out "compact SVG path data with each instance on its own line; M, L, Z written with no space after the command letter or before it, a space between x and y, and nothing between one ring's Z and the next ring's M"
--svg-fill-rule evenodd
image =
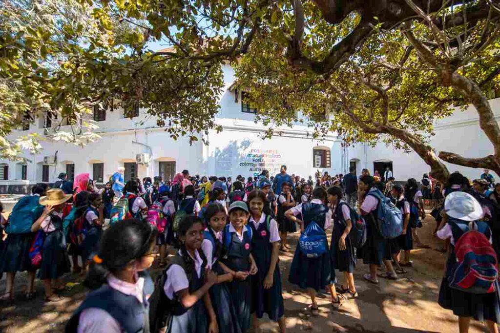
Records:
M496 252L476 222L468 223L463 231L455 221L448 221L455 239L456 263L448 275L451 288L464 292L484 294L495 291L498 279Z

